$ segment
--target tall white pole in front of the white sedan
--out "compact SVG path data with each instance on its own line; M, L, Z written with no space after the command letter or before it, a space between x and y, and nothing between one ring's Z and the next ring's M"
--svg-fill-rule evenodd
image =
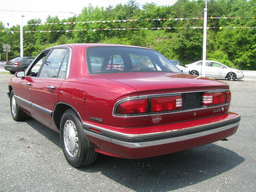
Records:
M206 31L207 31L207 0L205 0L204 9L204 38L203 38L203 63L201 76L205 77L205 64L206 64Z

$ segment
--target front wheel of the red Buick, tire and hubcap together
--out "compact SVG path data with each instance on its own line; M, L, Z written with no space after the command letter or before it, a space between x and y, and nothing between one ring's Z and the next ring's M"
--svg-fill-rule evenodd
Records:
M27 114L22 111L20 106L18 106L18 104L15 101L14 95L15 95L14 91L12 90L10 94L10 108L11 108L12 118L14 119L14 121L25 120L27 118Z

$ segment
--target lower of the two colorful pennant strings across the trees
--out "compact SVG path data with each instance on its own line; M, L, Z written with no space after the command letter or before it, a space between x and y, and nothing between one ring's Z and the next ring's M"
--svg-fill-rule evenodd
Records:
M254 29L256 27L207 27L208 29ZM31 33L31 32L70 32L70 31L100 31L100 30L160 30L160 29L203 29L203 27L158 27L158 28L112 28L112 29L73 29L73 30L52 30L52 31L24 31L25 33ZM1 32L6 32L6 33L12 33L14 32L19 32L19 31L7 31L7 30L2 30Z

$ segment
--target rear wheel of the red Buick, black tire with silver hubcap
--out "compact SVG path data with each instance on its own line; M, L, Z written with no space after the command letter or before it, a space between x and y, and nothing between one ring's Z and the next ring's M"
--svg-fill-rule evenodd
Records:
M60 143L66 160L75 168L88 166L96 160L97 152L84 134L82 122L73 109L66 110L61 118Z

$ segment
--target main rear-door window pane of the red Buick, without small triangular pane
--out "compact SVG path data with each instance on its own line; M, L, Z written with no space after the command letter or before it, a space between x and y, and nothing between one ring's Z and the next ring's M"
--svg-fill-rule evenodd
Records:
M62 59L66 52L68 52L66 49L54 49L44 62L39 77L57 78Z

